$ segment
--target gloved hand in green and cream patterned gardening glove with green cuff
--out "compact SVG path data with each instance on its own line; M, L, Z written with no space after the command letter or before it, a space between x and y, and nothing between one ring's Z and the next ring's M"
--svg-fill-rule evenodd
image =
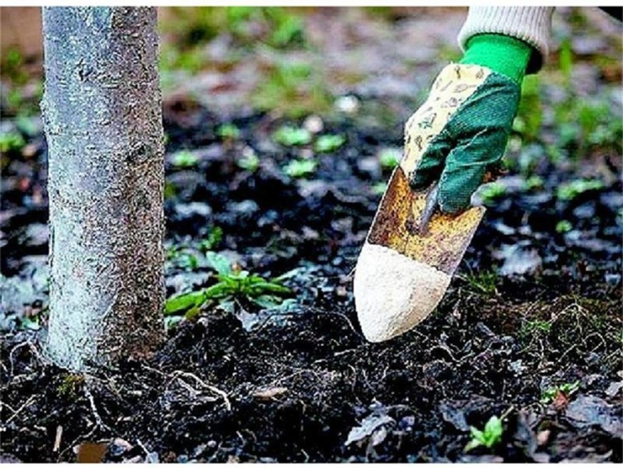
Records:
M467 208L487 170L500 163L533 52L509 36L473 36L461 62L441 71L407 121L400 166L414 190L439 180L442 212Z

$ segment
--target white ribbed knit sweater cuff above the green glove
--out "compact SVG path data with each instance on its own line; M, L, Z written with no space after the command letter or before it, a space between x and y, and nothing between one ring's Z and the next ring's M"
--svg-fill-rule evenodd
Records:
M541 68L548 54L553 6L470 6L467 20L458 33L462 50L477 34L504 34L524 40L541 54L529 65L529 71Z

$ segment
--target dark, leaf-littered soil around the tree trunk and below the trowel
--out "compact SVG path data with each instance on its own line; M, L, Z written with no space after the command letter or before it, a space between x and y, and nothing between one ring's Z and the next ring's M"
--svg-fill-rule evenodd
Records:
M47 244L32 227L47 217L45 145L33 138L35 156L13 158L3 175L2 273L34 298L26 312L4 311L3 460L105 451L111 462L623 461L620 155L586 161L611 182L572 200L556 187L582 168L542 160L541 189L505 179L434 315L370 344L351 278L379 201L372 187L389 175L373 161L401 144L400 129L326 119L324 133L347 143L316 156L309 180L292 180L280 167L302 150L271 141L280 122L270 115L234 119L235 141L217 136L223 122L202 107L178 102L165 117L167 150L197 148L199 158L186 170L167 163L170 244L193 248L221 227L216 250L248 270L299 268L286 282L295 305L275 315L249 306L261 317L254 327L243 327L240 307L210 305L172 327L153 357L101 375L48 364L38 332L24 330L45 325ZM236 165L247 146L260 158L255 173ZM561 219L573 229L556 232ZM210 281L202 266L167 266L168 295ZM470 426L493 415L504 416L502 442L463 452Z

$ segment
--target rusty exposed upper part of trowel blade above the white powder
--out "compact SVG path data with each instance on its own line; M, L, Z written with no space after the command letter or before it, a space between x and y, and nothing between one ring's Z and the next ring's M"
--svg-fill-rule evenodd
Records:
M402 168L397 167L370 227L368 243L386 246L452 275L483 219L485 208L472 207L458 215L436 212L429 220L426 234L421 234L418 223L425 206L426 193L414 192Z

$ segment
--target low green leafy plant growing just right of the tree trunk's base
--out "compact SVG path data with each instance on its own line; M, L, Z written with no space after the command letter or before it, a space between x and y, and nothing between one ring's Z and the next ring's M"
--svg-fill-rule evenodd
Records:
M192 316L210 300L222 304L246 299L263 308L276 307L282 302L280 296L290 293L290 288L280 284L282 278L265 280L259 275L233 268L226 257L215 252L208 252L206 258L211 268L216 271L218 282L202 290L169 298L165 304L166 314L188 310L185 316Z

